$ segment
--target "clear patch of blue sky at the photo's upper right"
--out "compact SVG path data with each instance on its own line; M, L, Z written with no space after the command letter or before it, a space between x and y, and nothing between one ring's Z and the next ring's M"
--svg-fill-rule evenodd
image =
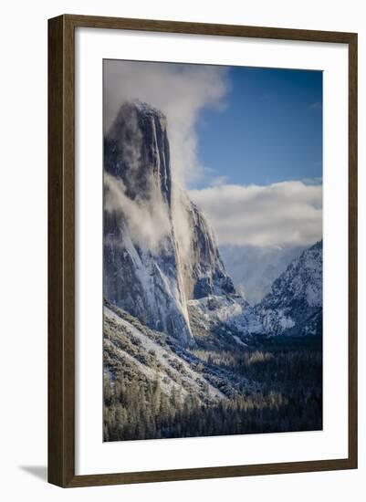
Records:
M208 179L267 185L321 178L322 72L231 67L227 80L225 107L204 108L196 124Z

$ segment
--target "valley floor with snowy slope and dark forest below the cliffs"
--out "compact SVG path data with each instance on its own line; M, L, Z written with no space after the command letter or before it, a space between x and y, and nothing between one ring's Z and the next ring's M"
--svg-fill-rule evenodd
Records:
M104 440L322 428L321 337L183 349L105 305Z

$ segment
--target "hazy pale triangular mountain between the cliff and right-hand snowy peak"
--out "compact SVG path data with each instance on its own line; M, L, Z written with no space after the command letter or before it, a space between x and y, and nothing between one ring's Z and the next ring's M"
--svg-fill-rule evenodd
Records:
M306 246L259 247L220 246L220 255L235 288L243 292L250 305L256 305L269 292L272 283Z

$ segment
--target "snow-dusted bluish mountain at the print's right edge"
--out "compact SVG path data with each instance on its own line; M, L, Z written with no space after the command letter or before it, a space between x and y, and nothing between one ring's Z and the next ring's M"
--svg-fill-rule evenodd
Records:
M269 335L322 332L323 246L319 241L294 259L256 306Z

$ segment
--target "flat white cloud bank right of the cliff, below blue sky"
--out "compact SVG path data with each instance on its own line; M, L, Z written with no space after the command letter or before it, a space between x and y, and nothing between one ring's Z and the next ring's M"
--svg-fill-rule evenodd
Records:
M302 246L322 237L322 186L224 184L191 190L219 245Z

